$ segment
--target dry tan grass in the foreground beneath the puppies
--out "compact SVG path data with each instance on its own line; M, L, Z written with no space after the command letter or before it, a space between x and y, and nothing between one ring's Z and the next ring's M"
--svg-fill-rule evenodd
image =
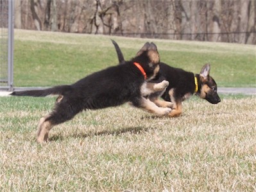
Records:
M256 191L255 97L183 102L180 118L87 111L35 143L52 98L0 98L0 191Z

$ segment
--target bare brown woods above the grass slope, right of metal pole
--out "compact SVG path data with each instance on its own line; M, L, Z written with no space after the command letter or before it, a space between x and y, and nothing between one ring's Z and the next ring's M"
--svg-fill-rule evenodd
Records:
M15 28L256 44L255 0L15 0Z

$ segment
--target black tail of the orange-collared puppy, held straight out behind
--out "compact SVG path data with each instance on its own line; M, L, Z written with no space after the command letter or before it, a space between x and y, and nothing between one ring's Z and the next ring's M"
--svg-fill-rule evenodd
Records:
M21 92L12 92L13 96L32 96L32 97L46 97L47 95L65 95L65 93L72 90L69 85L54 86L44 90L28 90Z

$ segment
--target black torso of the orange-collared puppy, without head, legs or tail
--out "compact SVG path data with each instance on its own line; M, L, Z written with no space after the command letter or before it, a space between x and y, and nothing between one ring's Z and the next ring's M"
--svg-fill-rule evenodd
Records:
M83 106L87 109L107 108L128 102L139 96L144 83L137 71L134 72L135 69L132 63L126 63L91 74L71 85L74 90L72 97L83 99Z

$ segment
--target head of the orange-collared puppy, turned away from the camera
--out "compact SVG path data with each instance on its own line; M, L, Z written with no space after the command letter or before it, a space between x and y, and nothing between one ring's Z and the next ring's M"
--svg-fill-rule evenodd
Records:
M132 61L140 63L141 67L146 72L147 81L153 79L155 76L157 76L160 69L160 57L157 51L157 45L155 45L153 42L150 44L147 42L144 44L141 50L137 52L136 57L133 58Z

